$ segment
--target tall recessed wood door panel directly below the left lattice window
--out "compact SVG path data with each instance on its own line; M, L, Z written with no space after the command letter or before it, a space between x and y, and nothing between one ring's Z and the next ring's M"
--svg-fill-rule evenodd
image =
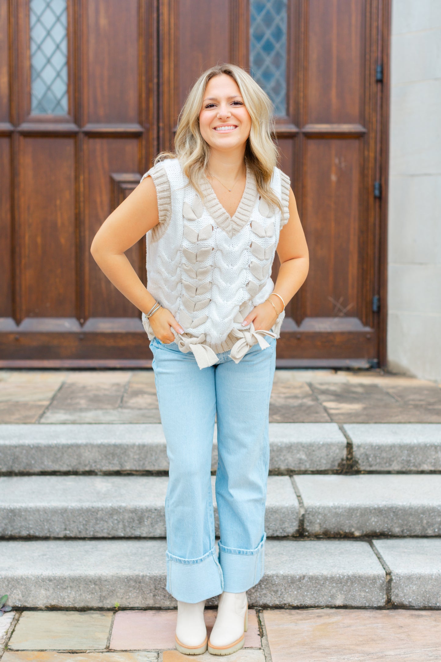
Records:
M20 321L76 312L75 141L21 137Z

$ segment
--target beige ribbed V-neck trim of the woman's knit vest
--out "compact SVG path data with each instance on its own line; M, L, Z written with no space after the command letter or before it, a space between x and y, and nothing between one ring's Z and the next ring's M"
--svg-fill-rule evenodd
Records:
M205 174L201 177L201 191L204 196L203 203L211 216L216 221L216 224L229 236L233 237L238 234L243 226L247 224L253 211L255 201L257 198L256 180L247 162L247 176L245 179L245 189L243 189L242 197L237 205L237 209L233 216L224 209L218 199L216 193Z

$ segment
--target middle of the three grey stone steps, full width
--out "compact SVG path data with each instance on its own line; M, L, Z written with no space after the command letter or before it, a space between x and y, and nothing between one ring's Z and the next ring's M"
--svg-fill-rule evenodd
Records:
M0 536L164 537L167 482L134 475L1 477ZM215 522L218 532L217 511ZM270 476L265 528L272 537L441 536L441 475Z

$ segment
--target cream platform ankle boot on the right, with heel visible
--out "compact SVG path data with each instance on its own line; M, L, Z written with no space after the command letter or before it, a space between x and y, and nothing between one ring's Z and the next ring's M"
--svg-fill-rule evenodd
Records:
M219 598L218 616L208 641L208 652L212 655L235 653L243 646L247 630L247 593L224 591Z

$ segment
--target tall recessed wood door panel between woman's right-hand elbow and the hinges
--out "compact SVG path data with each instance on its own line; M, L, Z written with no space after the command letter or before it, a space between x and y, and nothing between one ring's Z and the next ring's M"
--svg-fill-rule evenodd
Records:
M305 317L354 317L358 306L359 140L305 140L303 227L310 252L303 285Z

